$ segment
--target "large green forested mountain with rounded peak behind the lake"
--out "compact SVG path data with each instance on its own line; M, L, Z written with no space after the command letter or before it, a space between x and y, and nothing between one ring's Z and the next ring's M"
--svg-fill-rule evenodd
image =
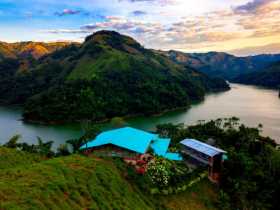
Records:
M117 32L100 31L17 71L0 63L0 102L25 103L29 121L101 121L185 107L208 91L229 89L194 69L143 48Z

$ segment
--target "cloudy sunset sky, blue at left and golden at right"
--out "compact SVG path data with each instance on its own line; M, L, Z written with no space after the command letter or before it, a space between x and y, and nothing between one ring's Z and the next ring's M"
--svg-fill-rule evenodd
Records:
M79 41L98 30L147 48L280 52L280 0L0 0L0 40Z

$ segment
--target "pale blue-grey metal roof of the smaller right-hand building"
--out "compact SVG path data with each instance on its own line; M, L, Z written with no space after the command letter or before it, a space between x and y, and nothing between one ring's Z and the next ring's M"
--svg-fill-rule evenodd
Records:
M226 151L219 149L217 147L213 147L209 144L205 144L201 141L195 140L195 139L185 139L180 142L181 144L190 147L196 151L199 151L203 154L206 154L210 157L213 157L219 153L226 153Z

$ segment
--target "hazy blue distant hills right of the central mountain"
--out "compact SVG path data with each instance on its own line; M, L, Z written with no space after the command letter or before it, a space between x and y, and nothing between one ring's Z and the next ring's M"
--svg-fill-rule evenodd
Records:
M237 57L223 52L183 53L168 51L162 53L177 63L198 69L208 76L221 77L226 80L258 72L274 62L280 61L280 54Z

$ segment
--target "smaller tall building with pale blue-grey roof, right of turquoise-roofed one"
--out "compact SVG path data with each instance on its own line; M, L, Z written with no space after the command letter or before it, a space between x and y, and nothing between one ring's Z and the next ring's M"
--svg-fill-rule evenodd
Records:
M226 151L195 139L185 139L180 144L181 153L187 160L207 166L208 178L210 181L218 183Z

